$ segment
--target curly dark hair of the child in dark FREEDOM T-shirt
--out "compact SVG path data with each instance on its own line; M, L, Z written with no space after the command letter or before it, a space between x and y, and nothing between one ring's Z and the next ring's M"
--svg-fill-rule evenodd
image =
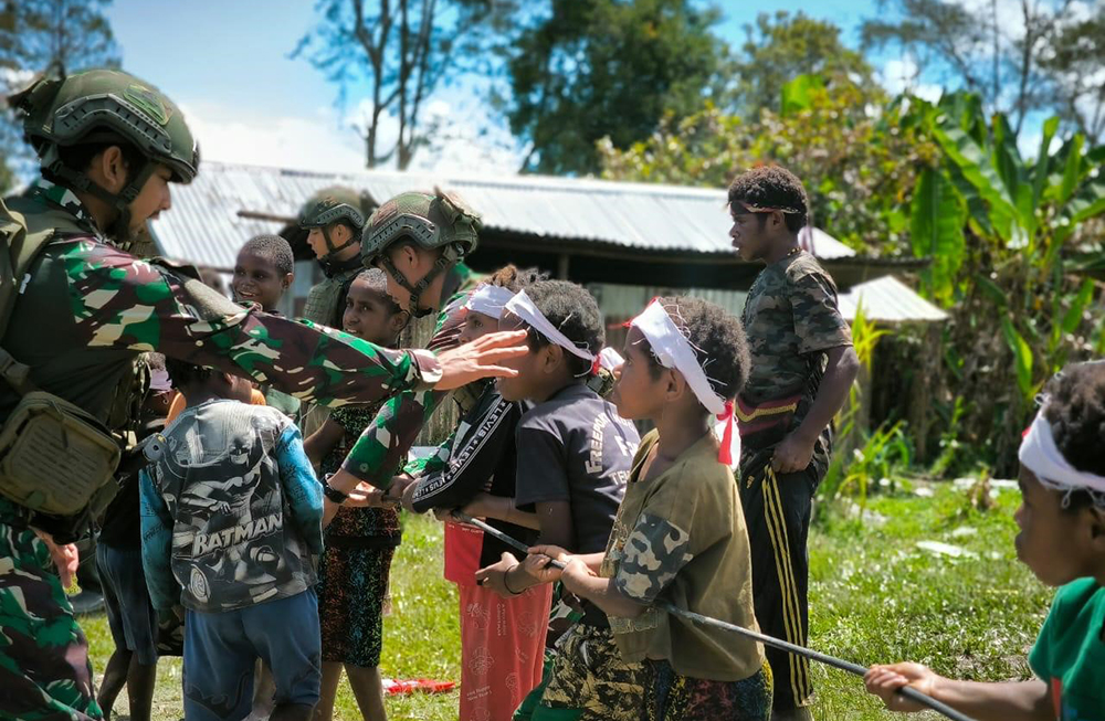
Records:
M567 280L538 280L526 288L526 295L568 340L591 353L602 350L607 337L602 314L599 312L599 304L582 286ZM529 333L526 340L534 350L550 342L539 332ZM591 364L582 358L569 352L565 353L565 358L572 375L581 377L590 372Z

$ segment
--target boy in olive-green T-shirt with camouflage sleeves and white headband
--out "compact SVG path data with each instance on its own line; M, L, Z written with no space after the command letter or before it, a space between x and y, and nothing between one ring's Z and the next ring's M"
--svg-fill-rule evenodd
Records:
M526 570L607 613L624 661L642 664L648 721L771 717L764 648L657 608L758 628L748 532L732 466L733 400L748 375L740 321L697 298L654 300L630 324L618 414L651 421L604 553L532 549ZM715 417L723 421L715 434ZM562 573L549 558L566 563Z

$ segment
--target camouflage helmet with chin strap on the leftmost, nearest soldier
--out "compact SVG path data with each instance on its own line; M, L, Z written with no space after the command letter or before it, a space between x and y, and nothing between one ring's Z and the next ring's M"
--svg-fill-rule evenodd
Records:
M23 121L23 132L43 170L73 190L92 193L119 211L108 235L126 237L128 205L152 174L156 163L172 171L173 182L188 183L199 169L196 139L180 109L156 87L114 70L91 70L65 78L41 77L9 98ZM127 142L146 158L131 168L118 193L94 183L84 168L66 167L59 148L93 142ZM122 231L122 233L119 232Z

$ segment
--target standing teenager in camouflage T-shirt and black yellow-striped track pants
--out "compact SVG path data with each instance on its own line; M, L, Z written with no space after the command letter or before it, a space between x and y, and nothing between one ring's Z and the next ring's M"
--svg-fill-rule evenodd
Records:
M733 246L767 265L745 300L751 373L737 396L756 617L764 633L802 646L813 492L829 468L830 424L859 370L836 286L798 244L807 209L801 181L777 166L750 170L729 188ZM767 657L772 718L810 719L809 661L771 648Z

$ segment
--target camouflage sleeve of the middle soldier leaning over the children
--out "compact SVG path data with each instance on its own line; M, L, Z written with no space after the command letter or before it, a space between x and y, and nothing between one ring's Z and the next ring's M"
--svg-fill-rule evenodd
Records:
M455 348L460 333L460 297L453 297L438 317L429 348L442 351ZM341 469L359 480L385 488L399 471L422 426L449 393L441 391L406 391L388 400L376 421L357 438Z

